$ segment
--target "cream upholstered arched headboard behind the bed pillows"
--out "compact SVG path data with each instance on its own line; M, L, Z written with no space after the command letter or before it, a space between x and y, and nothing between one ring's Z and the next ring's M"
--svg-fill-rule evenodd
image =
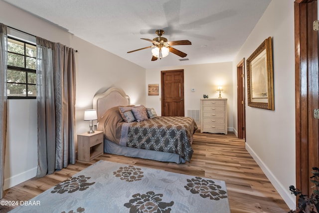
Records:
M130 97L124 90L116 87L111 87L101 94L96 94L93 98L93 109L96 109L98 122L108 109L128 105L130 105Z

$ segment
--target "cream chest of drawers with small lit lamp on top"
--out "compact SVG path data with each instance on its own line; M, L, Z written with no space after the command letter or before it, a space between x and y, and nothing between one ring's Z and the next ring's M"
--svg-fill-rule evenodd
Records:
M200 132L227 134L227 98L200 99Z

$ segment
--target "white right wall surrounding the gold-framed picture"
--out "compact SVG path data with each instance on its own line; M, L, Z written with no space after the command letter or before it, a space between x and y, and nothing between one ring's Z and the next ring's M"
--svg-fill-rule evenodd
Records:
M247 59L268 36L273 38L275 111L249 107L246 101L246 148L288 206L295 209L296 198L289 191L290 185L296 186L294 0L271 1L234 59L234 85L237 63ZM234 87L234 109L236 92ZM237 127L236 114L233 120Z

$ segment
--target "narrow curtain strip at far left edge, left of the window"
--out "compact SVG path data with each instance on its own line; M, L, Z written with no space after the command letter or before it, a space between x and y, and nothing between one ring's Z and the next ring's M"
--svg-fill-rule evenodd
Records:
M6 25L0 23L0 199L3 197L4 155L6 140L6 64L7 34Z

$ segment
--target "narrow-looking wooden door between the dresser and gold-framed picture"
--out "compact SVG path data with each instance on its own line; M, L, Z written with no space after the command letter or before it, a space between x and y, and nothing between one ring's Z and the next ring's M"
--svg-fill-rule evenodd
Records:
M246 138L245 119L245 59L237 64L237 127L238 138Z

